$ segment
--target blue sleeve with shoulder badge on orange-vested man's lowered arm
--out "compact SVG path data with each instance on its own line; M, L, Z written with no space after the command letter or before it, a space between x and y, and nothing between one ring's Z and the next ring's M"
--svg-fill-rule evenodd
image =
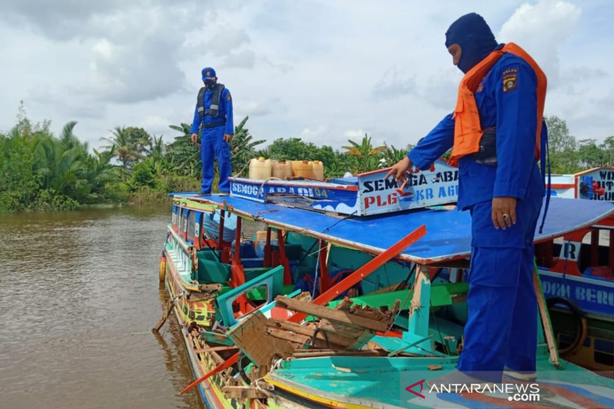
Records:
M493 197L523 199L537 132L537 78L526 63L505 64L497 72L497 176Z

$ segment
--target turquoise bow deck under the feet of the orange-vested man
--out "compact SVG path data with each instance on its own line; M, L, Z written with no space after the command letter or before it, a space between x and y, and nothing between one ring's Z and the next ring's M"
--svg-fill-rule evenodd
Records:
M429 370L438 364L442 370ZM295 359L270 375L276 388L285 389L306 399L319 399L333 407L351 408L612 408L614 380L600 377L576 365L564 362L565 370L557 370L548 362L546 345L540 345L537 359L537 383L540 400L510 402L510 395L492 393L429 392L425 382L405 388L421 380L440 377L453 370L457 357L347 357L328 356ZM513 380L504 378L506 383ZM572 383L573 381L573 383ZM529 389L531 392L531 389ZM318 398L319 397L319 398ZM528 406L527 406L528 405ZM539 405L539 406L537 406Z

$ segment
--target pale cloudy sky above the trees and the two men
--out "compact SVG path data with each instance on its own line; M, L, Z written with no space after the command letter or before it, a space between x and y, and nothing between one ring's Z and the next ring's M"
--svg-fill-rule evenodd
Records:
M611 0L0 0L0 132L23 101L90 147L115 126L171 142L212 66L254 139L403 147L453 110L445 32L468 12L540 64L546 115L578 140L614 135Z

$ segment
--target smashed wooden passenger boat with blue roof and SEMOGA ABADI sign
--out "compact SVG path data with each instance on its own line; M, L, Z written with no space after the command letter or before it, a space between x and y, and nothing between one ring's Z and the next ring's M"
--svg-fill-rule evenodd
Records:
M160 278L195 376L182 393L209 408L518 407L514 394L425 383L456 367L467 319L470 216L450 205L455 171L436 162L403 186L386 170L233 178L231 196L172 194ZM552 198L535 242L612 213ZM262 229L244 238L245 220ZM611 379L559 357L537 275L535 288L540 407L614 407Z

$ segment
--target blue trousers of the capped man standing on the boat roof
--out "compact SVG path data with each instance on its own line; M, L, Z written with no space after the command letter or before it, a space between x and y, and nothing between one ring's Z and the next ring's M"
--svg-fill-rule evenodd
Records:
M224 126L203 129L201 134L200 159L203 162L203 184L201 193L211 193L213 182L213 163L217 157L217 167L220 171L218 186L220 192L230 192L231 175L230 145L224 140Z

